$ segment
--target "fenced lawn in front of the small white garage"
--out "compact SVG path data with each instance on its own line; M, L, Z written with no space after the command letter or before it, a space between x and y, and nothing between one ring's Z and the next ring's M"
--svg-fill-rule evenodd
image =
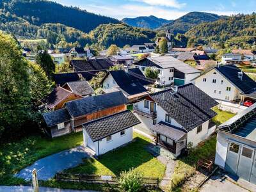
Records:
M165 165L149 154L144 147L148 139L134 133L134 142L104 154L99 159L86 159L76 168L65 170L66 173L119 175L124 170L135 168L143 173L144 177L163 178Z

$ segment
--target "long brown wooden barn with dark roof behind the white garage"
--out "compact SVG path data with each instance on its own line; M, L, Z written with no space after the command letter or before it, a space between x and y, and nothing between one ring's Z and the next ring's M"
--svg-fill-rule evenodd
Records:
M54 138L69 132L82 131L84 123L124 111L126 104L127 99L122 92L72 100L63 109L43 114L45 132Z

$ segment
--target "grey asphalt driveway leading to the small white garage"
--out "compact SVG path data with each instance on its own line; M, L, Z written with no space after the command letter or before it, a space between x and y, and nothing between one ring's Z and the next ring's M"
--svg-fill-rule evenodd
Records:
M57 154L44 157L43 159L39 159L35 163L31 164L31 166L21 170L15 176L31 180L31 172L35 168L38 170L38 180L48 180L54 177L56 173L67 168L77 166L83 163L84 158L89 158L91 156L93 156L93 152L88 148L84 148L83 146L71 148Z

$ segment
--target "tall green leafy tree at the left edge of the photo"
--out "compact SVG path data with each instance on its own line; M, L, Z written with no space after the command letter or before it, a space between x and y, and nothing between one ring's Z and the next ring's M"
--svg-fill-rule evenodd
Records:
M19 45L0 32L0 136L17 130L28 120L30 105L29 66Z

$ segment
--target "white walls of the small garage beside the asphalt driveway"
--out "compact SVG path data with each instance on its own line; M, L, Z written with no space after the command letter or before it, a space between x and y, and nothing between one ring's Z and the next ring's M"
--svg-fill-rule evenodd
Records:
M125 134L122 136L120 132L113 134L110 141L107 141L106 138L104 138L102 140L93 142L84 129L83 133L83 136L85 137L84 145L95 151L97 156L105 154L106 152L109 152L132 141L132 127L125 129Z

